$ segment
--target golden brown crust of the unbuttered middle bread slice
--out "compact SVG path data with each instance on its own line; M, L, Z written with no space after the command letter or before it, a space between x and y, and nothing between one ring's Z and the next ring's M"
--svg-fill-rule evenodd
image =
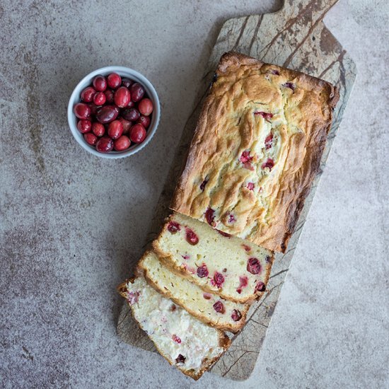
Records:
M218 328L219 330L222 330L222 331L230 331L230 332L234 332L234 333L238 332L243 327L243 325L245 324L245 321L246 321L248 309L250 308L249 304L246 304L246 306L243 309L239 310L240 313L242 314L242 318L239 320L238 323L237 322L234 324L231 323L231 325L221 325L219 323L215 323L215 322L209 320L209 318L207 318L206 315L199 315L199 313L197 313L197 311L188 308L187 306L185 306L185 303L183 301L181 301L179 298L174 298L173 295L170 293L170 291L168 291L166 289L162 290L160 287L158 287L158 285L155 282L153 282L153 280L149 277L147 269L143 266L143 258L146 257L146 255L148 255L148 254L149 254L149 251L146 251L144 256L139 261L139 263L137 265L137 274L139 274L141 277L144 277L144 279L146 279L147 283L151 287L153 287L153 289L158 291L158 293L162 294L163 296L166 296L167 298L170 298L171 301L176 303L181 308L184 308L192 316L201 320L202 322L206 323L207 325L209 325L211 327ZM185 278L185 277L182 277L182 278Z

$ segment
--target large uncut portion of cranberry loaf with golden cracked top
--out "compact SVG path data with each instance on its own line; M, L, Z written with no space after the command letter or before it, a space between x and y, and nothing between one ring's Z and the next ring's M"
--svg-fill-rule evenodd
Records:
M284 252L337 100L326 81L224 54L170 208Z

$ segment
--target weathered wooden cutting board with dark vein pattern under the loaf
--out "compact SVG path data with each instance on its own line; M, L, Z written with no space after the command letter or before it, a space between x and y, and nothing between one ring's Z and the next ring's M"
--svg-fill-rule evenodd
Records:
M339 87L340 100L321 161L323 171L356 76L354 62L323 24L325 13L336 2L337 0L285 0L283 8L276 13L233 18L224 23L204 74L202 95L187 120L173 166L156 207L150 242L169 214L168 205L192 139L202 100L224 52L234 50L248 54L264 62L303 71ZM319 180L320 174L313 182L288 251L276 255L266 294L250 308L247 324L240 333L233 335L231 348L211 368L213 373L239 381L247 379L252 373ZM129 274L124 274L125 276ZM127 303L122 307L117 332L124 342L156 351L149 337L134 323Z

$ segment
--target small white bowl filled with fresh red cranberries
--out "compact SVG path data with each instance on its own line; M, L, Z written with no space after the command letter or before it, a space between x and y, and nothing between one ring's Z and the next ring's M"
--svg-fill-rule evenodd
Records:
M76 141L95 156L124 158L149 143L160 106L146 77L122 66L85 76L71 93L68 122Z

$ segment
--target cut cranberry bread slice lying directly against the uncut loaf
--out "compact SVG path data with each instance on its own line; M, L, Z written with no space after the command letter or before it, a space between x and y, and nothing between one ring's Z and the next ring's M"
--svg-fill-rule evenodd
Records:
M176 212L167 219L153 248L182 277L238 303L262 295L273 261L269 250Z

